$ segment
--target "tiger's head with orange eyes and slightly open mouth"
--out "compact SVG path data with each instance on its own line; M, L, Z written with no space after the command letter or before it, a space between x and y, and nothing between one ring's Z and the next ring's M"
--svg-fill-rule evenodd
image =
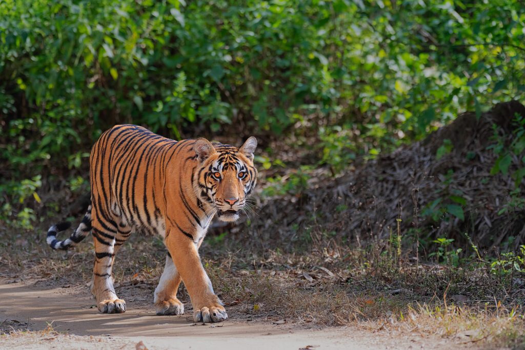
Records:
M240 148L212 144L205 138L195 140L193 149L198 161L195 190L201 202L216 211L222 221L236 221L239 211L247 206L246 197L257 182L256 147L257 139L253 136Z

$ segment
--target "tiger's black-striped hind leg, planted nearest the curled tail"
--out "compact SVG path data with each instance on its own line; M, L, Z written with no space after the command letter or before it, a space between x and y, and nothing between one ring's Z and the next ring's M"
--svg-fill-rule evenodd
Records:
M95 212L92 215L93 240L95 242L95 267L91 292L97 299L97 307L102 313L122 313L126 311L126 302L117 297L113 288L112 266L118 238L116 222L100 219Z

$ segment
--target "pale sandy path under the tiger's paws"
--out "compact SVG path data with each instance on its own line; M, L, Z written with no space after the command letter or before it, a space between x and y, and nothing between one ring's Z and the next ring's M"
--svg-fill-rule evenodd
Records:
M140 341L149 349L380 349L450 348L458 342L419 335L393 336L351 327L314 330L261 321L194 325L191 312L156 316L153 305L127 301L123 314L100 314L87 287L57 288L38 283L0 280L0 322L27 322L31 330L44 330L48 322L64 335L0 337L0 348L130 348ZM144 299L144 298L142 298ZM130 298L129 300L133 300ZM103 345L103 346L102 346Z

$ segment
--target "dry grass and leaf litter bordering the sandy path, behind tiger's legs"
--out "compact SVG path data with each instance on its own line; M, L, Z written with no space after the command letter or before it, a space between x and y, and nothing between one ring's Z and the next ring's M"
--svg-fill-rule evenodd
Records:
M9 242L12 253L0 257L4 277L72 287L91 279L91 242L68 252L50 250L43 239L18 236ZM372 332L525 346L525 289L503 283L482 265L416 264L409 257L385 254L392 249L384 242L367 249L319 244L318 249L285 254L224 251L235 247L226 240L205 243L202 255L232 318L287 320L298 326L358 325ZM135 288L150 298L164 258L158 238L132 237L116 259L117 291ZM180 294L188 303L184 288Z

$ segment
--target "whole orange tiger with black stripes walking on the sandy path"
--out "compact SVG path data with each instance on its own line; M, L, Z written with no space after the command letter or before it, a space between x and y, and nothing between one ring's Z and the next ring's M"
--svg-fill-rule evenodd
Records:
M93 145L89 157L91 203L69 238L57 234L70 227L49 228L53 249L74 247L90 232L95 242L91 292L101 313L122 313L126 303L113 288L112 267L119 248L134 232L160 235L167 248L164 271L154 291L158 315L184 313L177 299L181 281L190 295L194 322L228 318L198 254L217 215L235 222L246 210L257 182L257 139L240 147L205 138L175 141L137 125L116 125Z

